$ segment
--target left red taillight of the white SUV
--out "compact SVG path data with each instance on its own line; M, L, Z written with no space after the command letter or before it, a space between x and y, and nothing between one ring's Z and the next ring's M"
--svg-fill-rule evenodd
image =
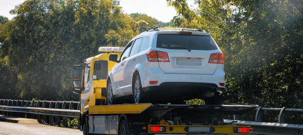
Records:
M167 52L158 51L158 50L150 50L147 52L147 60L149 62L169 62L169 55Z

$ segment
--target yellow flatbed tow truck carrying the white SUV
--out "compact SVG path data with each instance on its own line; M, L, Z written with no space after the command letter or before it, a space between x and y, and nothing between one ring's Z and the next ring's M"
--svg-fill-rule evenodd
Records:
M250 134L250 126L224 123L223 115L243 114L257 105L106 104L106 76L123 47L99 47L100 54L73 66L73 92L80 94L83 134Z

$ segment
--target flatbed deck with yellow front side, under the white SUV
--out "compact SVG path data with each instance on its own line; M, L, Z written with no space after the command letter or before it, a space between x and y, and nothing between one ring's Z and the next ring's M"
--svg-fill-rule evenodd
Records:
M189 104L115 104L115 105L95 105L89 106L89 114L138 114L145 111L168 112L171 110L224 112L224 114L243 114L258 105L189 105Z

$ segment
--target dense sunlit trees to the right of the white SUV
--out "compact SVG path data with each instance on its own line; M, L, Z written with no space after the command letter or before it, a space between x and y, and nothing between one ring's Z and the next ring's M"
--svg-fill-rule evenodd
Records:
M224 52L225 102L303 108L302 1L167 1L175 25L205 29Z

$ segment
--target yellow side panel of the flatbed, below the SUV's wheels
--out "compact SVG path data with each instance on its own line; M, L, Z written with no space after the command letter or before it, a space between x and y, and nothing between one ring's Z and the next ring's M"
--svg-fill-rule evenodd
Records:
M98 105L89 106L89 114L130 114L141 113L151 106L151 103L142 104L116 104L116 105Z

